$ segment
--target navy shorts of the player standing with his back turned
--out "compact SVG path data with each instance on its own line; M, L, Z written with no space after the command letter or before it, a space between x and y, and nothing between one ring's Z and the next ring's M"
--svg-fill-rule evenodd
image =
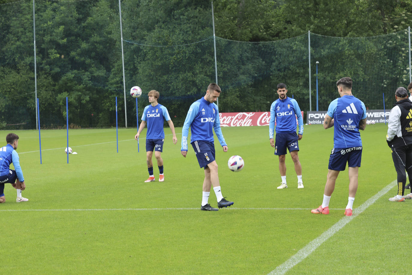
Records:
M337 149L333 148L329 157L328 169L344 171L348 167L361 167L362 146Z

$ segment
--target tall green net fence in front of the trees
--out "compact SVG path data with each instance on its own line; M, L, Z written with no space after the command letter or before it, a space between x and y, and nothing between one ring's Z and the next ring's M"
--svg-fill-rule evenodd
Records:
M137 127L155 89L182 126L216 80L220 112L268 111L280 82L303 111L327 110L344 76L368 109L390 108L410 82L408 31L239 42L214 38L211 2L190 0L35 0L34 14L35 28L33 0L0 5L0 129L36 129L35 80L42 129L66 127L66 97L71 128L115 127L116 98L119 127Z

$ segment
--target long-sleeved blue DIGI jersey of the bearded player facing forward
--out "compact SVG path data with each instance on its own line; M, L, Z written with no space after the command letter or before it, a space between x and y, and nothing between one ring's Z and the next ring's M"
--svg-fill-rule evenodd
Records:
M276 99L270 106L269 139L273 139L276 121L276 133L296 133L296 118L299 134L303 135L303 118L295 99Z

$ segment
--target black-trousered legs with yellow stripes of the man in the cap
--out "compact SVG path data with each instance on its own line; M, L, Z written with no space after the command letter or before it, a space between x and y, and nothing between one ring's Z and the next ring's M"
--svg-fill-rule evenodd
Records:
M392 160L395 166L398 183L398 193L396 196L389 198L391 202L402 202L405 200L403 193L405 191L406 183L406 152L407 147L392 148Z

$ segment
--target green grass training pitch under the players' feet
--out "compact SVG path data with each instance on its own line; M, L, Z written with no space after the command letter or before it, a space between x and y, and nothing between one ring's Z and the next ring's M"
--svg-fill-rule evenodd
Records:
M11 131L20 137L23 196L29 201L16 203L15 189L6 184L6 203L0 205L2 273L276 273L345 219L350 221L316 249L286 265L286 273L405 273L412 202L388 201L397 191L386 130L376 124L361 131L362 167L352 217L344 217L347 169L337 179L330 214L310 213L322 202L333 147L333 129L321 125L304 127L299 142L304 189L299 190L289 154L288 188L276 189L279 161L268 127L222 128L229 151L215 141L220 185L234 205L218 212L200 211L203 169L190 146L186 158L180 155L181 128L176 128L176 145L165 128L163 183L143 182L148 177L145 132L138 153L136 129L119 129L117 153L115 129L70 130L69 146L78 154L69 155L67 164L66 131L44 130L40 165L38 132ZM0 131L0 137L8 132ZM244 158L241 172L227 168L231 155ZM356 214L391 183L388 193ZM213 190L209 203L217 207Z

